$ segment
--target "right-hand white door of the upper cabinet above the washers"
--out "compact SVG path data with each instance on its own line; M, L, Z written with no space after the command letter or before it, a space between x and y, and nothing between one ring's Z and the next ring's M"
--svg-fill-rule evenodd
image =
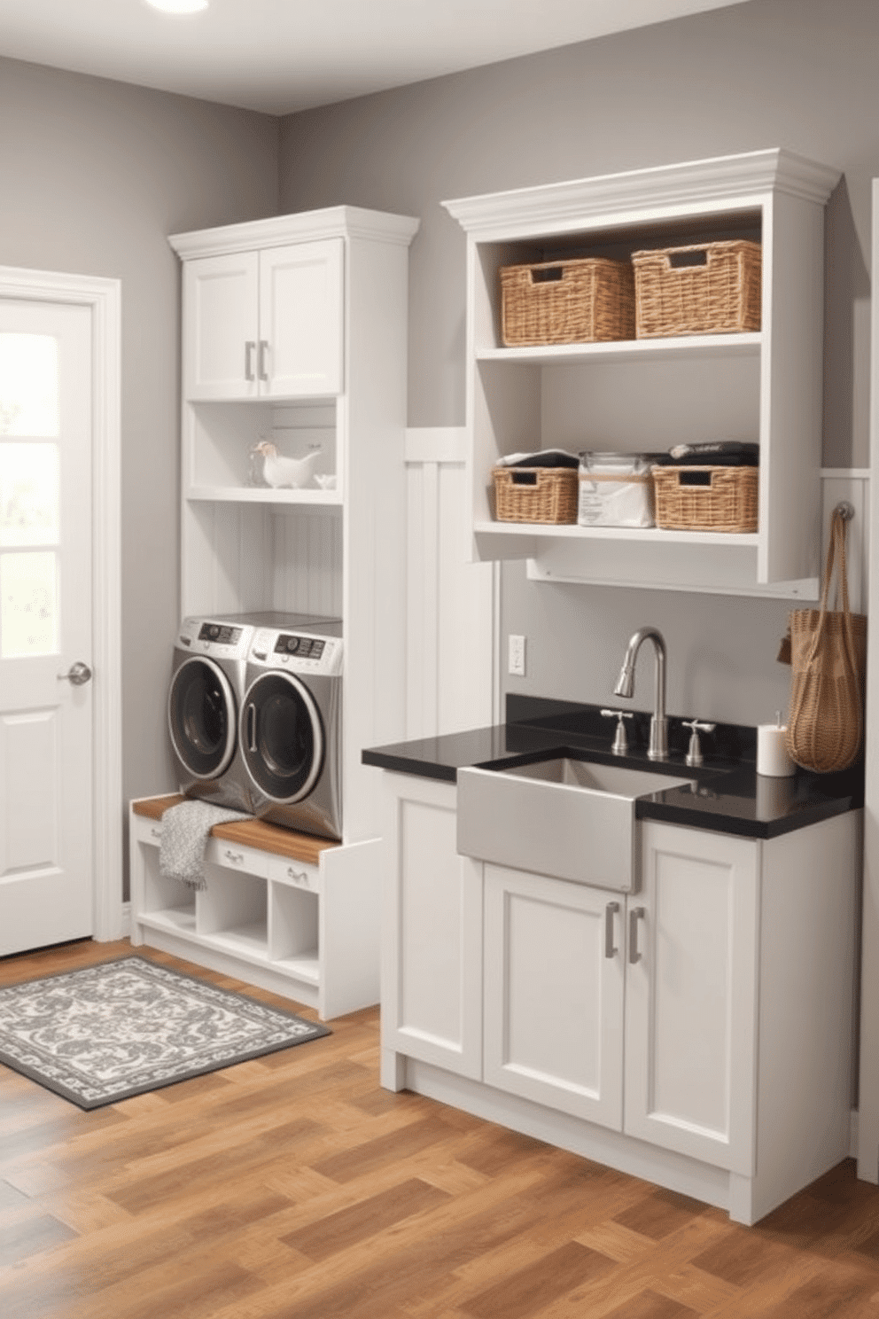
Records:
M343 376L341 239L260 255L261 392L336 394Z

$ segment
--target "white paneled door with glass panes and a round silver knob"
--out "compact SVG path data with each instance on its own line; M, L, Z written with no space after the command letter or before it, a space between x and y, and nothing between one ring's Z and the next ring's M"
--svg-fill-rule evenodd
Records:
M92 311L0 298L0 955L92 933Z

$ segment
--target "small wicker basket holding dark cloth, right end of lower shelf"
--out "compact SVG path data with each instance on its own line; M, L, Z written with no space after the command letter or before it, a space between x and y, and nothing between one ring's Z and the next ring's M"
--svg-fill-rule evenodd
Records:
M756 467L654 467L656 526L756 532Z

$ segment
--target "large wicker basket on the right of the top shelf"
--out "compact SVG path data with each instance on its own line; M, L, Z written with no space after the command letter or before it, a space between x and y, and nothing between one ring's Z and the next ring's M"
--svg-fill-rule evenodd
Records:
M633 252L638 339L760 328L759 243Z

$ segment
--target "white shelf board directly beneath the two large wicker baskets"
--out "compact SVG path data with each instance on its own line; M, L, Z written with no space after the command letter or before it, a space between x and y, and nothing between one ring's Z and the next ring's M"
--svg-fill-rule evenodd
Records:
M706 334L676 339L619 339L611 343L556 343L526 348L480 348L477 361L505 361L527 365L584 365L589 361L681 361L700 357L759 356L762 335Z

